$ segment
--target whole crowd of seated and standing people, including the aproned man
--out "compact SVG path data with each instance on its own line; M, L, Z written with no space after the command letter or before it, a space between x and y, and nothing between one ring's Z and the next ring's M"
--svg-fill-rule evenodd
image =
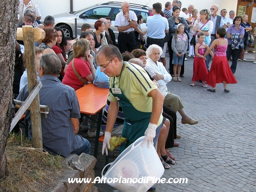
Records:
M147 17L147 29L143 31L142 15L130 11L128 2L121 5L116 15L115 26L119 32L118 47L111 27L111 17L97 20L92 27L85 23L81 35L72 40L59 27L53 27L52 16L41 23L38 6L31 0L23 0L19 6L19 26L31 25L42 28L46 35L40 44L35 43L38 80L43 84L39 91L40 104L50 106L47 118L42 115L43 145L52 154L67 157L70 153L90 154L90 143L78 135L79 128L87 130L89 137L96 130L88 119L81 119L79 102L75 90L92 83L96 69L110 77L110 94L102 116L102 131L105 134L102 154L108 154L111 136L127 138L120 152L139 137L145 135L143 145L156 146L157 154L165 169L175 164L169 149L179 144L177 115L181 123L195 125L198 120L188 116L182 99L170 93L166 84L172 80L182 82L186 54L194 57L191 86L201 81L202 86L212 88L237 83L237 60L241 49L246 50L252 27L248 16L236 16L235 12L222 9L217 15L218 5L211 8L194 9L193 5L183 8L179 0L152 5L152 15ZM199 14L199 15L198 15ZM156 28L157 26L157 28ZM147 41L144 45L144 35ZM15 81L13 93L18 100L28 97L26 57L24 46L18 41L15 47ZM169 49L169 73L166 70L166 51ZM228 60L232 57L231 67ZM209 70L209 62L212 65ZM245 60L244 58L242 58ZM92 118L98 118L92 116ZM29 137L32 139L30 112L26 112ZM82 125L80 125L82 123ZM84 124L86 126L84 126ZM85 128L84 128L85 127ZM95 126L94 126L95 127ZM155 187L152 186L151 190Z

